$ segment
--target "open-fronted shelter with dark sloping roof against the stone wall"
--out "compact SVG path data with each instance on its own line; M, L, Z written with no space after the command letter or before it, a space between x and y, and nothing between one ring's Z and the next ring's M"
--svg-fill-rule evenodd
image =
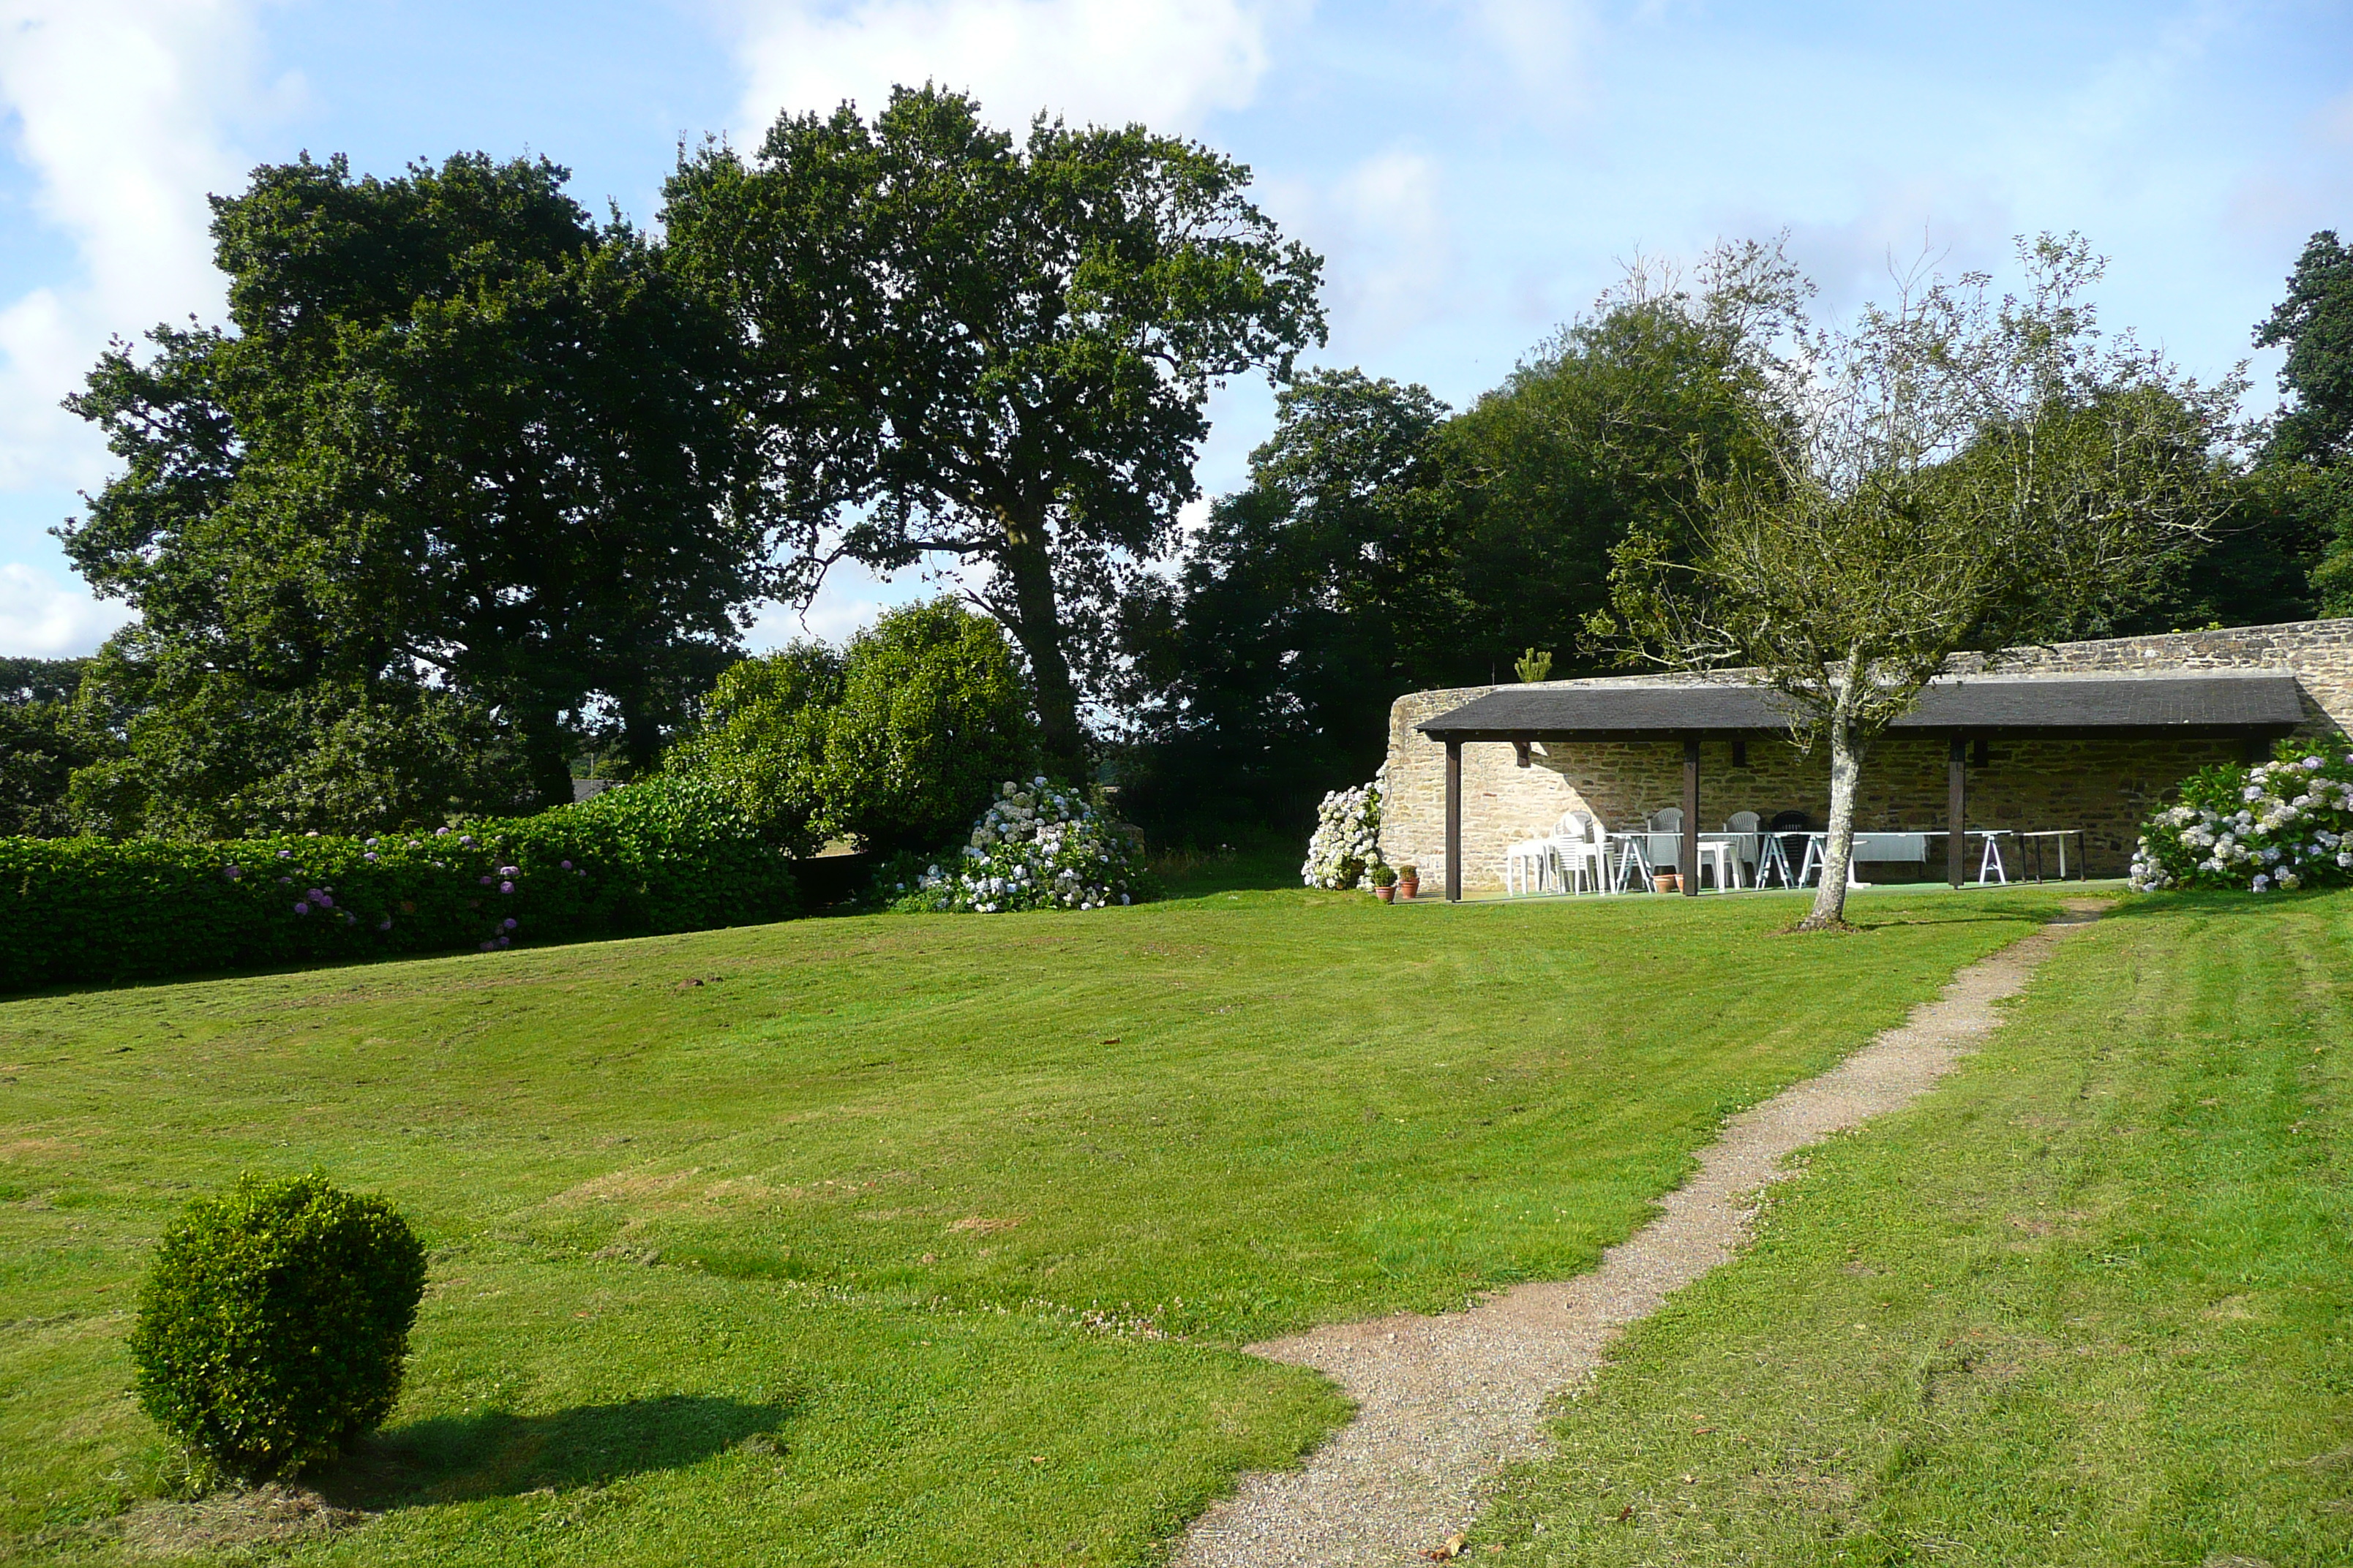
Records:
M1798 806L1828 816L1826 769L1817 766L1819 759L1793 762L1781 715L1781 698L1767 686L1682 679L1501 686L1424 719L1414 726L1419 736L1445 748L1445 839L1442 856L1435 856L1445 865L1445 896L1464 896L1466 745L1497 752L1508 745L1515 769L1558 773L1565 792L1555 795L1595 818L1617 818L1607 823L1612 830L1635 827L1628 813L1647 816L1640 802L1661 792L1657 752L1680 752L1675 863L1682 891L1697 896L1701 835L1725 837L1706 832L1706 809L1769 816L1769 806ZM2297 677L2275 670L1939 679L1866 762L1857 835L1937 837L1944 877L1960 886L1972 856L1981 856L1972 851L1972 839L1981 844L1988 832L2082 832L2099 820L2099 844L2108 846L2118 825L2137 820L2148 797L2209 762L2259 757L2301 722ZM1922 766L1922 755L1934 752L1944 762L1941 799L1934 799ZM1628 764L1628 757L1638 762ZM1722 771L1704 778L1708 757L1718 757ZM1892 759L1901 766L1889 766ZM1868 788L1875 764L1897 773L1892 788ZM2033 773L2033 788L2019 788L2019 773ZM1972 790L1986 776L2000 785L1998 816L2017 820L1986 820L1984 813L1972 820ZM2113 799L2118 792L2132 799ZM1485 802L1499 795L1513 792L1482 790ZM1492 823L1482 820L1482 827L1473 853L1494 849ZM1412 853L1414 846L1405 844L1393 860Z

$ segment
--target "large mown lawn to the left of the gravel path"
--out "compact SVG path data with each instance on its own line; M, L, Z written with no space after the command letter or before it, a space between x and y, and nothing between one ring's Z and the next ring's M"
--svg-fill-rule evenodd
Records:
M0 1001L0 1554L172 1486L127 1394L193 1194L431 1246L351 1563L1136 1563L1344 1418L1235 1347L1588 1267L1720 1117L2054 893L1217 891Z

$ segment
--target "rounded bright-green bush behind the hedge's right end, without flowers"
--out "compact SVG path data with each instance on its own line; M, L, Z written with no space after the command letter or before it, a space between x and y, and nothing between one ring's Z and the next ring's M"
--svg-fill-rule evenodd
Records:
M939 844L1028 766L1028 696L1005 632L951 599L887 611L833 654L800 642L729 668L671 771L715 778L807 853Z

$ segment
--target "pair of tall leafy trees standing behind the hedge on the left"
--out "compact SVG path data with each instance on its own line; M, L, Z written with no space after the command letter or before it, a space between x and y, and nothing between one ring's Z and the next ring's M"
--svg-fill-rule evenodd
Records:
M226 327L115 343L122 463L59 536L139 609L80 679L101 832L372 827L654 766L755 604L859 559L976 569L1038 741L1195 496L1209 388L1322 341L1247 169L1141 127L896 92L708 143L664 237L546 160L264 167L214 200Z

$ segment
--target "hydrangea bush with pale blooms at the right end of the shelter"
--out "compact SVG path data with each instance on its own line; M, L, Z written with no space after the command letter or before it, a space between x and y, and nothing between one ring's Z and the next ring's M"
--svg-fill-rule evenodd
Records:
M2337 745L2344 745L2339 741ZM2353 752L2282 741L2259 766L2214 766L2148 818L2132 886L2271 889L2353 884Z

